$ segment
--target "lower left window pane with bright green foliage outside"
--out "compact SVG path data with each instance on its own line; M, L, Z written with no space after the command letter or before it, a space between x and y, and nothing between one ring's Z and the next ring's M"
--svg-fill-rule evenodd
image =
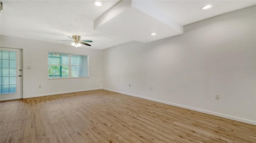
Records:
M69 77L68 66L55 66L51 65L48 67L49 78L58 78L58 77Z

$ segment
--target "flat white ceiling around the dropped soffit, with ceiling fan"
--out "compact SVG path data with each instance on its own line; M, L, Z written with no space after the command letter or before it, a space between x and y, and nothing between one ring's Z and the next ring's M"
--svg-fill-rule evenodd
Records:
M135 40L127 38L125 35L112 35L94 30L94 20L118 3L119 0L102 0L103 4L100 7L95 6L91 0L1 1L3 2L3 10L0 15L1 35L64 45L70 45L70 42L55 40L69 40L67 36L80 35L82 40L93 41L90 43L92 45L90 48L93 49L105 49ZM143 2L155 6L160 12L181 25L191 24L256 4L254 0L145 0ZM206 4L212 4L212 8L202 10L202 6ZM134 32L140 34L140 31ZM87 46L82 45L82 47Z

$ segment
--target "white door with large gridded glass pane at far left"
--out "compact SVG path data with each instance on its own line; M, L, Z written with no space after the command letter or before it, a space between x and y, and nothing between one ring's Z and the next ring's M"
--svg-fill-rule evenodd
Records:
M0 101L22 98L22 50L0 48Z

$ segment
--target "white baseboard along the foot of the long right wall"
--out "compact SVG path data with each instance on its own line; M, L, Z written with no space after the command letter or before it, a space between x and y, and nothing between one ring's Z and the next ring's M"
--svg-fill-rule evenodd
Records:
M147 98L147 97L144 97L144 96L138 96L138 95L135 95L135 94L129 94L129 93L126 93L126 92L120 92L120 91L106 89L106 88L102 88L102 89L112 91L112 92L121 93L121 94L130 95L130 96L134 96L134 97L138 97L138 98L143 98L143 99L146 99L146 100L160 102L160 103L163 103L163 104L168 104L168 105L172 105L172 106L176 106L176 107L180 107L180 108L185 108L185 109L189 109L189 110L193 110L193 111L198 111L198 112L202 112L202 113L206 113L206 114L210 114L210 115L214 115L214 116L219 116L219 117L222 117L222 118L232 119L232 120L235 120L235 121L241 121L241 122L244 122L244 123L249 123L249 124L252 124L252 125L256 125L256 121L251 121L251 120L248 120L248 119L242 119L242 118L238 118L238 117L234 117L234 116L228 116L228 115L224 115L224 114L220 114L220 113L216 113L216 112L211 112L211 111L207 111L207 110L192 108L192 107L188 107L188 106L184 106L184 105L180 105L180 104L174 104L174 103L170 103L170 102L165 102L165 101L161 101L161 100Z

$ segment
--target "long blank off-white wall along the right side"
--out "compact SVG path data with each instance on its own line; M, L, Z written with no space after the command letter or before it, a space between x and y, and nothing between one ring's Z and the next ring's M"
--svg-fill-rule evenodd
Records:
M102 87L256 124L255 9L185 25L174 37L104 49Z

